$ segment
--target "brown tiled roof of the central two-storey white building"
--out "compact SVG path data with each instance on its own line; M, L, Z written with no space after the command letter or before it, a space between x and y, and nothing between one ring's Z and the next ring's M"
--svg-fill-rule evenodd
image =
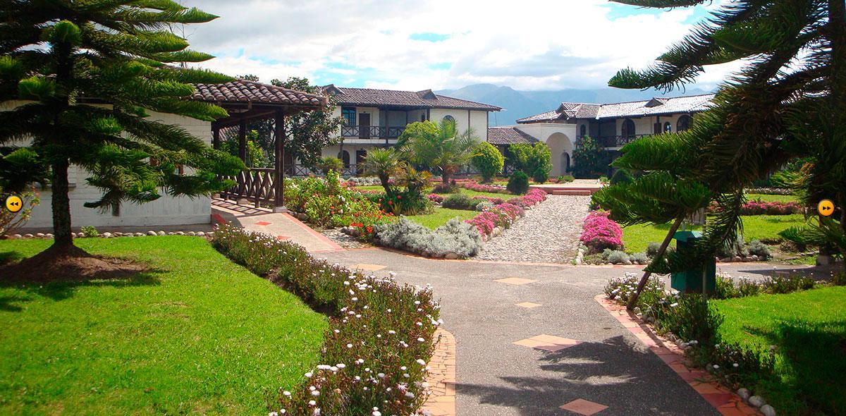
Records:
M349 106L384 106L384 107L419 107L419 108L460 108L498 112L501 107L481 102L459 100L451 96L438 96L431 90L398 91L371 90L369 88L342 88L327 85L322 90L335 97L338 104Z

